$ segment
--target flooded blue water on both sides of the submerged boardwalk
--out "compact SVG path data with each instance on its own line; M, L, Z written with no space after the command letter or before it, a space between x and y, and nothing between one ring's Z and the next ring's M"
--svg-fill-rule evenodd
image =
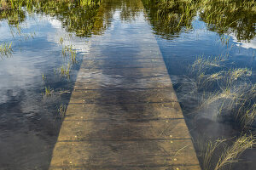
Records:
M125 59L140 54L137 47L143 47L128 44L127 37L140 32L146 43L150 38L145 32L154 33L202 169L214 169L222 153L218 149L208 165L203 144L229 139L228 147L239 136L255 133L253 1L167 1L172 4L165 8L161 1L142 0L143 9L138 1L32 1L19 10L0 10L0 44L12 47L11 54L0 53L0 169L49 168L80 65L104 35L109 38L104 47L118 48L104 48L102 53ZM125 66L121 62L110 59L105 66ZM222 97L227 91L228 97ZM238 110L249 115L232 115ZM255 169L254 145L240 155L238 163L224 168Z

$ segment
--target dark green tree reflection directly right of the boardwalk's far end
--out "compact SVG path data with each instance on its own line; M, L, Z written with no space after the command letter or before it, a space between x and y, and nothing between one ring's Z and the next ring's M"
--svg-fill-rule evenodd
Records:
M183 28L191 29L198 7L198 3L191 0L143 0L143 4L155 33L168 39Z

